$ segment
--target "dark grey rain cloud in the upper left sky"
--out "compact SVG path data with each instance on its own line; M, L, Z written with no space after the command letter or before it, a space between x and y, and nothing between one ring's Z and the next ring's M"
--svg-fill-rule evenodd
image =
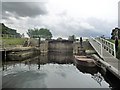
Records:
M44 2L2 2L2 18L35 17L47 14Z

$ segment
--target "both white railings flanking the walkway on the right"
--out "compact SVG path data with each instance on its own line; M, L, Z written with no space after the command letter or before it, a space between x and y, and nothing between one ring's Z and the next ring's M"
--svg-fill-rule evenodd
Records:
M96 52L103 58L103 49L116 58L115 44L103 38L89 38L90 44Z

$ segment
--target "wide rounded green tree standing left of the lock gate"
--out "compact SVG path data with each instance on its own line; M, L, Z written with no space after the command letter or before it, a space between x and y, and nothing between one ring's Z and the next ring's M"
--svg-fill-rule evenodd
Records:
M52 34L51 34L50 30L47 29L47 28L28 29L27 34L30 38L39 38L39 37L45 38L45 39L51 39L52 38Z

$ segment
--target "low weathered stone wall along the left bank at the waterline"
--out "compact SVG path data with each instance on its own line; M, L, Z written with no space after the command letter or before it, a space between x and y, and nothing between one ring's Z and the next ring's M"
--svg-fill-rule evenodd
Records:
M5 59L5 52L6 52L6 59ZM4 55L3 61L5 60L25 60L28 58L31 58L33 56L36 56L39 54L39 49L38 48L16 48L13 49L12 51L3 51Z

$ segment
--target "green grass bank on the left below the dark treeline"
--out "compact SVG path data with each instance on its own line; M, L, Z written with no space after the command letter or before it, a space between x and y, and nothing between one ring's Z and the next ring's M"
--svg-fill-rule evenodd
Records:
M15 45L23 45L25 38L0 38L2 40L2 45L5 46L15 46Z

